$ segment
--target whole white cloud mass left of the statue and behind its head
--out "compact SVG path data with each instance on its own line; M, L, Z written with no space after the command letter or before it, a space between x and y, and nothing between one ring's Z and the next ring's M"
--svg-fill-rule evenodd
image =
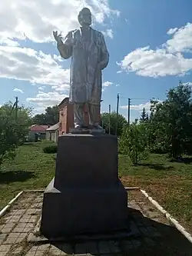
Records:
M20 41L53 42L52 32L58 30L65 36L78 28L78 12L83 7L91 9L93 25L104 25L105 18L120 15L112 10L108 0L8 0L0 8L0 78L12 78L38 84L39 93L28 102L43 109L65 98L69 89L69 69L59 55L48 55L31 48L20 48ZM108 29L108 35L112 31ZM54 92L45 94L40 85L51 85Z

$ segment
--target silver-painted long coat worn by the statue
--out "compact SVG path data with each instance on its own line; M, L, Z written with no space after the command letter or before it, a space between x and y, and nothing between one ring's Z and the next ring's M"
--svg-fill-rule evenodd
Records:
M71 57L71 103L100 105L101 69L108 65L109 54L102 33L90 29L89 40L84 39L81 28L69 32L63 45L58 45L58 51L65 59Z

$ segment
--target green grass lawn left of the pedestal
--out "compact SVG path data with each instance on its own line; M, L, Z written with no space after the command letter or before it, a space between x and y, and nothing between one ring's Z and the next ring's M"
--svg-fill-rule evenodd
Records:
M0 209L24 189L45 188L55 174L55 154L42 151L50 142L26 143L18 148L14 160L0 170Z

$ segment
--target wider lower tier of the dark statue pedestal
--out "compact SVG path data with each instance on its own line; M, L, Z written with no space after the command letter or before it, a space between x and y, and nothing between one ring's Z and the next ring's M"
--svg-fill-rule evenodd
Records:
M127 192L120 181L107 188L45 190L41 233L47 238L127 229Z

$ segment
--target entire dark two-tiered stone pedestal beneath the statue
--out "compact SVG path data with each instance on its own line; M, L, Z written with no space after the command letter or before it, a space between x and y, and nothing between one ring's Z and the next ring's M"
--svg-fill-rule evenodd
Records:
M58 138L55 179L45 190L41 233L47 238L127 228L127 192L118 180L111 135Z

